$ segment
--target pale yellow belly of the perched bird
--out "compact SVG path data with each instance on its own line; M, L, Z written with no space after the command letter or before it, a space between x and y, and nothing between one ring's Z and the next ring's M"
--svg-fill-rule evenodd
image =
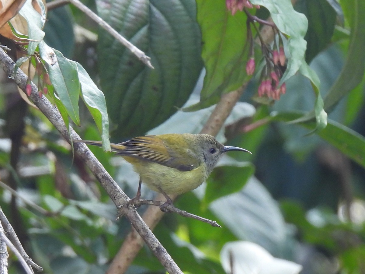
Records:
M191 171L179 171L157 163L146 163L143 166L134 165L134 170L150 189L161 192L160 188L166 194L183 194L196 189L206 179L203 164Z

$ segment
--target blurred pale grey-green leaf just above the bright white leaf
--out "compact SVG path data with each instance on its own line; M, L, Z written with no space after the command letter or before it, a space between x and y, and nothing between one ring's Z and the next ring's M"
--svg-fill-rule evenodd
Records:
M282 254L287 237L283 216L256 178L251 177L239 193L222 197L209 208L238 239L260 244L274 256Z

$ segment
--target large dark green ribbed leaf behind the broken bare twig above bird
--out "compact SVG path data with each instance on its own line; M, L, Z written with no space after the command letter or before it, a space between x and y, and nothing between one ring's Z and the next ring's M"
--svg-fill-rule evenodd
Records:
M115 124L112 136L120 139L144 134L186 102L202 68L200 31L193 0L105 2L98 3L101 17L145 51L155 67L147 68L100 31L100 84Z

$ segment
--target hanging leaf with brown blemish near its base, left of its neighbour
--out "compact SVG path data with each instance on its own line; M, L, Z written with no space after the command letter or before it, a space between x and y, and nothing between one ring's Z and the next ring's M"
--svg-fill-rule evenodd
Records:
M39 44L39 51L42 59L48 65L49 77L57 96L72 121L79 126L78 98L81 85L78 80L76 62L65 58L61 52L47 46L43 41Z

